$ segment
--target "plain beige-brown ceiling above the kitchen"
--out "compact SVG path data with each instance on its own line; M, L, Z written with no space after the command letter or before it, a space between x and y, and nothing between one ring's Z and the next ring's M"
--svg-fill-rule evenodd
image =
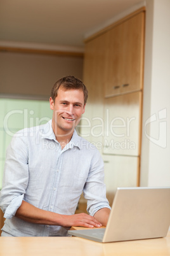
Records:
M142 0L0 0L0 41L84 45L84 37Z

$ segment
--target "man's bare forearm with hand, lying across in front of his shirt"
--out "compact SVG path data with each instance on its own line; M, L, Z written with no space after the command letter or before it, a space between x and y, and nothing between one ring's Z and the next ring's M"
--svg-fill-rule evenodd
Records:
M26 222L43 225L60 225L63 227L82 226L100 227L101 224L94 217L86 213L75 215L60 215L51 211L41 210L32 204L22 201L22 205L16 211L15 217L21 218Z

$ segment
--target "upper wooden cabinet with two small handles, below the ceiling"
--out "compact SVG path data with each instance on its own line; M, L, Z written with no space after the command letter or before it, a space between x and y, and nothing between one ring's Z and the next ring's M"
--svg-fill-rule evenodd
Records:
M145 12L105 33L105 97L141 90Z

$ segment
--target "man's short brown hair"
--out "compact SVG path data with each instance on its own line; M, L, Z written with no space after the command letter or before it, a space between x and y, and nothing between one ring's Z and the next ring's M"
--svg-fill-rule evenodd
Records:
M82 83L81 80L78 78L75 78L74 76L65 76L63 78L60 78L51 89L51 98L55 102L55 98L58 94L58 89L62 85L63 89L65 90L71 90L71 89L78 89L82 90L84 94L84 105L86 104L86 101L88 99L88 90L84 83Z

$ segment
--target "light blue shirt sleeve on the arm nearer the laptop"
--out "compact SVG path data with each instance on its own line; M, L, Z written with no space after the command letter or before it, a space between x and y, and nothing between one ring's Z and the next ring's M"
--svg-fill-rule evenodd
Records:
M98 150L91 159L88 179L84 186L84 198L88 200L87 211L91 216L94 216L101 208L111 209L106 197L104 163Z

